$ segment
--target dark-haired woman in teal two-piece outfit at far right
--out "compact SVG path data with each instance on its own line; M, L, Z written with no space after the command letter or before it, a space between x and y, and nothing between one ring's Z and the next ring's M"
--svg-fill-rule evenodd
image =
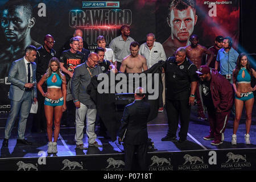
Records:
M253 110L254 96L253 91L256 90L256 86L251 88L251 77L256 78L256 72L253 68L250 68L249 60L245 53L240 53L237 58L236 69L233 70L233 88L236 92L235 106L236 106L236 118L234 119L232 144L237 144L237 129L241 119L243 104L245 105L246 112L246 134L245 143L250 144L250 127L251 127L251 112Z

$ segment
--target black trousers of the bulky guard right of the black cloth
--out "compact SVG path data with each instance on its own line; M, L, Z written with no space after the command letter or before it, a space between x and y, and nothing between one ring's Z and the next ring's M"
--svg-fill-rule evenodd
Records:
M166 111L168 118L168 135L176 137L177 127L180 118L180 132L179 137L181 140L187 139L188 124L191 113L191 106L187 100L174 101L166 98Z

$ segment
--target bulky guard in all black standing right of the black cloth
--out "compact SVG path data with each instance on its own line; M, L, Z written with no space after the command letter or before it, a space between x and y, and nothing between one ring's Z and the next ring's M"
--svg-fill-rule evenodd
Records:
M195 101L196 71L196 65L187 59L183 47L177 49L175 56L169 57L163 65L163 72L166 73L166 110L169 128L162 141L177 141L179 117L179 142L187 139L191 105Z

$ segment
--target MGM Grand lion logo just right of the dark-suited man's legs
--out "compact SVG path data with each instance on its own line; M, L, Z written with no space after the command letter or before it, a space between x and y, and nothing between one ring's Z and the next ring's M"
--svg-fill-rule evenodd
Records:
M173 166L171 166L171 159L159 158L154 155L151 157L152 163L148 168L149 171L172 171Z

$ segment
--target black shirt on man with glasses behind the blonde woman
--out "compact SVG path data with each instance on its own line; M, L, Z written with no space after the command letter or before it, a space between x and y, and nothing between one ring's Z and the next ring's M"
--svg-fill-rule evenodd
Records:
M46 49L41 46L36 49L36 52L36 81L38 82L44 73L46 73L49 60L55 56L56 51L51 49L50 52L47 52Z

